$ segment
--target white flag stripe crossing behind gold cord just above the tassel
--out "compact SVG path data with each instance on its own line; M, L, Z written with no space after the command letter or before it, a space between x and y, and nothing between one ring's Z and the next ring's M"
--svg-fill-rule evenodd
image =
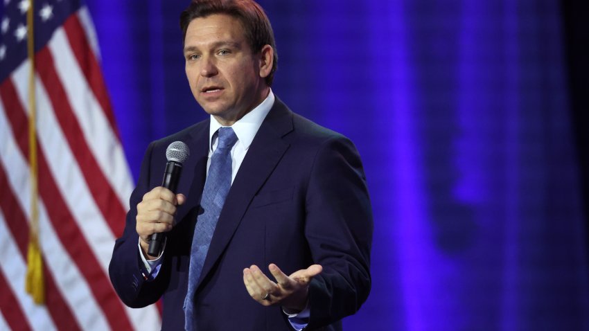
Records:
M19 202L21 210L30 223L30 176L26 159L21 154L8 127L5 109L0 102L0 162L4 169L10 169L6 174L12 192ZM8 189L8 188L6 188ZM91 290L80 273L76 263L62 246L47 215L43 202L39 202L39 231L42 240L39 241L47 263L46 267L53 275L55 285L62 293L62 298L70 307L78 323L85 329L108 330L109 325L100 306L94 299ZM96 326L96 328L94 328ZM92 328L91 328L92 327ZM2 330L2 329L0 329Z

